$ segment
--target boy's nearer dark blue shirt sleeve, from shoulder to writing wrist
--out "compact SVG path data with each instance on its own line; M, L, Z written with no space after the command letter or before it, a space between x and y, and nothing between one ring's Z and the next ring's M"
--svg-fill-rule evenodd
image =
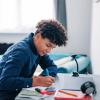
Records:
M3 60L5 63L0 75L0 90L17 90L32 86L32 78L20 77L27 61L24 50L15 50Z

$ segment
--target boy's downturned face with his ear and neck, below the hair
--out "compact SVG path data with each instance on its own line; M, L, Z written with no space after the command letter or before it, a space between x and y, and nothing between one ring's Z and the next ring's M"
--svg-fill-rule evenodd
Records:
M42 38L40 33L37 33L34 37L34 43L36 46L36 49L40 56L43 56L47 53L50 53L50 51L56 47L55 44L51 43L49 39Z

